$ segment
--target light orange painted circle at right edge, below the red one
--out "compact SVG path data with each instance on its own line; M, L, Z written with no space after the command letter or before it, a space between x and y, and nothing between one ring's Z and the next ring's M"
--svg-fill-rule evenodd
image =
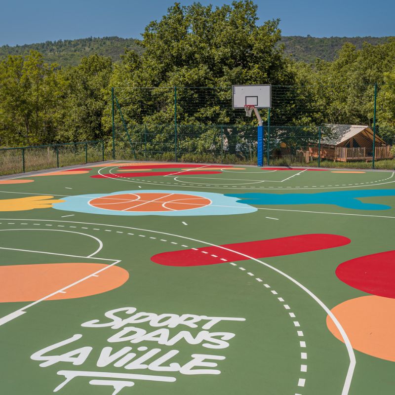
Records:
M395 299L382 296L350 299L331 310L355 350L395 362L394 311ZM344 342L329 316L326 325L337 339Z

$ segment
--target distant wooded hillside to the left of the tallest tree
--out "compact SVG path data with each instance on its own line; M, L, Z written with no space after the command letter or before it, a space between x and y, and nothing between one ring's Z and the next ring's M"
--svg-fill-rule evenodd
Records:
M7 55L26 55L35 49L44 55L47 63L59 63L61 66L76 66L83 56L93 54L110 56L113 61L119 60L125 48L134 49L142 53L143 48L135 39L121 39L119 37L89 37L79 40L45 41L37 44L0 46L0 59Z

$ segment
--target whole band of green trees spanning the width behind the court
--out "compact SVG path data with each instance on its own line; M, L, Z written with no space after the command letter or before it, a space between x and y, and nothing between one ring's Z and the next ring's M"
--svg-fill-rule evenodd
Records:
M77 65L61 67L44 59L50 42L29 54L8 55L0 61L0 146L109 139L112 86L128 87L118 91L127 123L171 123L174 92L164 87L174 86L222 89L203 96L181 92L180 122L236 122L229 106L220 104L232 84L247 83L281 87L273 121L294 125L371 125L377 83L378 130L392 140L395 40L366 42L359 49L345 42L334 60L308 63L285 56L278 24L260 22L251 0L221 7L174 3L146 27L141 41L124 45L118 62L95 47ZM95 40L91 44L99 45ZM80 49L78 42L67 45ZM52 55L55 61L55 50Z

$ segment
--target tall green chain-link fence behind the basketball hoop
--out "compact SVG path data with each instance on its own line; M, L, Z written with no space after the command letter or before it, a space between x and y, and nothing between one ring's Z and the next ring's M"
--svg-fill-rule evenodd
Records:
M272 108L260 110L264 164L394 169L395 127L376 119L377 86L351 104L346 88L272 85ZM256 164L257 120L232 108L231 87L121 87L113 97L115 159Z

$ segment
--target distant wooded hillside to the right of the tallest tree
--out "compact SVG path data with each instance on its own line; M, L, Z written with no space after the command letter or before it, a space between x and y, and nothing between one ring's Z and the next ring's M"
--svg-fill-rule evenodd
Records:
M316 58L332 61L336 58L339 49L345 42L353 43L357 49L362 48L362 44L377 45L383 44L389 37L301 37L283 36L281 43L285 45L285 54L292 59L303 62L314 62Z

